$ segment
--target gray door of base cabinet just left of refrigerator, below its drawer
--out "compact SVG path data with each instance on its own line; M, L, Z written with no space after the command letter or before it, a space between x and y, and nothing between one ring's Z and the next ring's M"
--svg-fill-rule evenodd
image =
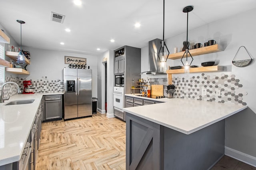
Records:
M61 118L61 100L45 101L45 119Z

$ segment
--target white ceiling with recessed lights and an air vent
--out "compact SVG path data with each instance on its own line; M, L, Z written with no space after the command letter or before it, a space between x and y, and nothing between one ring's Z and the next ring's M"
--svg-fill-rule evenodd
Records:
M82 0L82 6L73 0L1 0L0 4L0 24L18 44L16 20L26 22L22 45L27 47L98 55L123 45L142 48L152 39L162 39L163 0ZM194 10L188 27L194 29L256 8L256 0L166 0L165 39L186 31L187 15L182 10L189 5ZM50 21L51 12L65 15L64 22ZM140 28L134 27L136 22Z

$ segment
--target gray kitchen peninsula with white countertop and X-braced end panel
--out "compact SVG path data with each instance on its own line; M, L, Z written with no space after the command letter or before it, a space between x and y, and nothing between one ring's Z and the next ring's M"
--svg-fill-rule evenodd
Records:
M247 107L181 98L162 102L124 108L126 169L210 169L224 155L225 119Z

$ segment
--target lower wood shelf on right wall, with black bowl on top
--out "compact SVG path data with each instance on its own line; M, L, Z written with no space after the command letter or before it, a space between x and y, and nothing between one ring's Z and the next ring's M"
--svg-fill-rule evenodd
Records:
M223 71L224 67L223 66L206 66L206 67L194 67L190 68L189 72L217 72L217 71ZM167 74L179 74L179 73L184 73L185 69L174 69L174 70L166 70Z

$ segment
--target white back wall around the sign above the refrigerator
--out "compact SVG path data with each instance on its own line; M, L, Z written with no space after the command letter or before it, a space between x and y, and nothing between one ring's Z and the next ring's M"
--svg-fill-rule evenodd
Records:
M64 56L86 58L87 66L90 66L90 69L92 69L92 97L97 97L98 58L96 56L30 47L24 47L24 50L29 51L31 55L30 65L27 66L30 75L19 75L19 77L28 80L40 80L45 76L47 76L48 80L62 80L62 69L64 67L68 68L68 64L64 64Z

